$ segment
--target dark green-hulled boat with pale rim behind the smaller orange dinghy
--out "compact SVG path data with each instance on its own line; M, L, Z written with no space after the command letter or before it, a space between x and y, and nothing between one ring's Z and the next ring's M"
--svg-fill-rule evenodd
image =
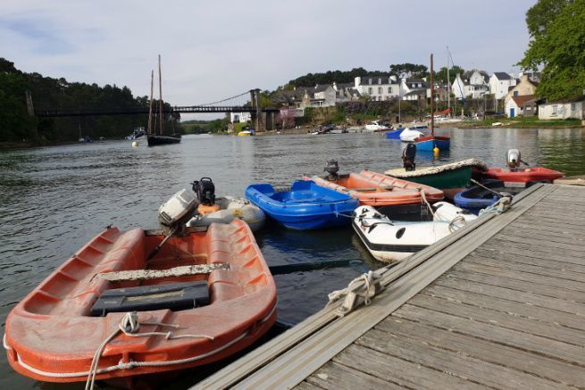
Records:
M488 166L484 162L472 158L434 167L416 168L415 170L397 168L386 170L384 174L439 188L446 197L453 199L456 193L471 186L472 178L480 178L482 172L486 170L488 170Z

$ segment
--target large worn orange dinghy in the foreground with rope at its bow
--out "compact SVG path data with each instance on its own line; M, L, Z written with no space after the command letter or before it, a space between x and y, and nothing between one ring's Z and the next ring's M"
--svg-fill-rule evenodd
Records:
M108 228L17 304L13 369L49 382L187 369L252 344L276 319L276 286L242 220L161 230Z

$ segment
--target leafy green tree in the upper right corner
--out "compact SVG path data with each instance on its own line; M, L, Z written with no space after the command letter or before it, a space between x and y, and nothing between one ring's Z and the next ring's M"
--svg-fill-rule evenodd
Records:
M537 95L574 98L585 87L585 0L539 0L526 12L531 42L518 65L542 66Z

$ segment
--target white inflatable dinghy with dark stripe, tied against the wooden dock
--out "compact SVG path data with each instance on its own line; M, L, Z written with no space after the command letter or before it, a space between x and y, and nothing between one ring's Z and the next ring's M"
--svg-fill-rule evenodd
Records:
M429 222L392 222L372 206L355 209L352 226L368 251L379 261L400 261L448 236L477 215L447 202L433 204Z

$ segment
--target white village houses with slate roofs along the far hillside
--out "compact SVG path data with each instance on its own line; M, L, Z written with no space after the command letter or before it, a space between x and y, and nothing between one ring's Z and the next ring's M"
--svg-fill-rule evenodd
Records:
M313 87L295 87L293 90L280 90L272 94L272 103L281 109L296 110L295 116L309 107L332 107L345 102L370 100L384 102L405 100L428 103L430 83L427 79L415 79L410 74L399 76L380 74L367 77L355 77L354 82L316 85ZM435 83L435 100L445 102L455 100L477 99L472 105L465 104L471 111L485 111L491 106L494 111L504 110L508 117L539 114L536 88L539 85L539 72L524 72L516 79L514 74L496 71L489 75L486 71L466 71L456 74L452 83ZM489 104L486 104L486 99ZM445 104L447 105L447 104ZM548 104L543 115L551 118L566 115L582 116L583 103L556 102ZM422 106L424 107L424 105ZM499 108L498 108L499 107ZM540 115L539 115L540 117ZM240 120L245 117L240 115Z

